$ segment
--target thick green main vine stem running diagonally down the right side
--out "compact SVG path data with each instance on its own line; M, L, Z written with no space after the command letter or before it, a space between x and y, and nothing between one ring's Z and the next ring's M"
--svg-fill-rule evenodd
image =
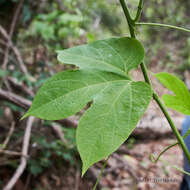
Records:
M130 35L131 37L133 38L136 38L136 35L135 35L135 30L134 30L134 26L135 26L135 23L133 23L133 20L131 19L131 16L129 14L129 10L128 10L128 7L126 5L126 2L125 0L120 0L120 3L121 3L121 6L123 8L123 12L125 14L125 17L126 17L126 20L128 22L128 26L129 26L129 31L130 31ZM143 3L141 2L141 0L139 1L139 4L140 3ZM140 7L140 6L139 6ZM142 9L142 8L141 8ZM142 10L140 10L141 12ZM139 10L137 11L137 14L138 14ZM151 84L151 81L150 81L150 78L148 76L148 71L147 71L147 68L146 68L146 65L144 64L144 62L141 63L141 70L142 70L142 73L144 75L144 79L145 81L150 85L150 87L152 88L152 84ZM159 96L156 94L156 92L153 91L153 98L154 100L157 102L157 104L159 105L160 109L162 110L164 116L166 117L170 127L172 128L173 130L173 133L175 134L179 144L181 145L188 161L189 161L189 164L190 164L190 153L187 149L187 146L185 145L185 142L182 138L182 136L180 135L179 131L177 130L174 122L172 121L168 111L166 110L166 107L164 106L164 104L162 103L162 101L160 100Z

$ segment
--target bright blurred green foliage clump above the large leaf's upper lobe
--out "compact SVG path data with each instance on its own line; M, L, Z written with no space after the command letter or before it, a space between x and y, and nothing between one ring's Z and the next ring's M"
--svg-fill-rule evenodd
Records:
M64 13L58 9L54 9L52 13L39 14L32 22L28 31L29 36L40 36L50 49L60 49L61 44L58 41L66 40L69 36L73 39L78 38L82 34L80 24L83 21L81 13ZM51 41L57 43L57 47L49 45Z

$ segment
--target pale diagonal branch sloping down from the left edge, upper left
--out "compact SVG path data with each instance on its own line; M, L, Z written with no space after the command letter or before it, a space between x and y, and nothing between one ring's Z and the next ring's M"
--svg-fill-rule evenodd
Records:
M21 55L20 55L19 50L13 45L11 39L9 38L9 35L7 34L6 30L5 30L2 26L0 26L0 33L1 33L1 34L3 35L3 37L8 41L8 46L9 46L9 48L11 48L11 49L13 50L13 52L14 52L14 54L15 54L17 60L18 60L18 63L19 63L19 66L20 66L21 71L22 71L25 75L29 75L29 74L28 74L28 70L27 70L27 68L25 67L24 62L23 62L23 60L22 60L22 57L21 57Z

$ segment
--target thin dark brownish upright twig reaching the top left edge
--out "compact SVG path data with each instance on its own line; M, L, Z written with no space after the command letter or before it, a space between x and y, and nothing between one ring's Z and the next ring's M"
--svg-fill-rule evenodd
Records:
M20 0L17 9L15 11L15 14L13 15L13 21L11 23L11 27L10 27L10 31L9 31L9 39L12 38L14 30L15 30L15 25L16 25L16 21L18 19L19 13L21 11L22 5L23 5L24 0ZM7 44L7 47L5 49L5 55L4 55L4 59L3 59L3 69L6 69L7 67L7 63L8 63L8 55L9 55L9 43Z

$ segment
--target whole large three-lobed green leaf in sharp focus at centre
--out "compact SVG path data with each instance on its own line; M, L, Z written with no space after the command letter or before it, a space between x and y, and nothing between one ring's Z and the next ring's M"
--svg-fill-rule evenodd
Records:
M58 59L79 66L50 78L37 93L24 118L66 118L93 101L82 116L76 140L83 174L109 156L131 134L145 112L152 92L132 81L129 71L144 58L141 44L131 38L111 38L60 51Z

